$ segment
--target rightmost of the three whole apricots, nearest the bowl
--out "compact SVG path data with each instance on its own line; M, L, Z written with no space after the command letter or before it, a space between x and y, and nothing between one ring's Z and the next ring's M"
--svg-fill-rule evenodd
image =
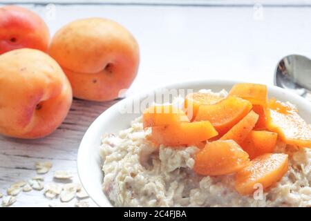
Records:
M115 99L138 73L139 46L115 21L78 19L58 30L48 48L67 75L73 96L98 102Z

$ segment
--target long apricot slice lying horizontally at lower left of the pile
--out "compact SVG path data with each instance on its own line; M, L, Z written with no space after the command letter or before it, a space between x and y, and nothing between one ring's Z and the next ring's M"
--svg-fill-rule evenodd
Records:
M170 124L165 126L153 126L151 140L156 144L166 146L180 146L197 144L218 135L210 122L190 122Z

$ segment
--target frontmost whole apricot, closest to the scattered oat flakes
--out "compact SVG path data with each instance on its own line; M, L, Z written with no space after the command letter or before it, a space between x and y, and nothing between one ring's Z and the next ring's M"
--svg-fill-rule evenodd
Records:
M34 139L62 124L73 93L62 68L40 50L0 55L0 134Z

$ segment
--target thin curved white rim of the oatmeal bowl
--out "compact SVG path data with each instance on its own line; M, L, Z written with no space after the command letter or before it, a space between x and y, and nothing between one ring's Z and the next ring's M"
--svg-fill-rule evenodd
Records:
M141 99L142 97L146 97L150 94L156 93L157 91L160 91L164 88L187 88L189 87L189 85L196 85L196 84L220 84L220 85L234 85L234 84L238 84L238 83L252 83L252 82L246 82L246 81L236 81L236 80L223 80L223 79L195 79L195 80L189 80L189 81L178 81L175 82L173 84L167 84L164 86L160 86L160 87L156 87L153 88L151 90L147 90L141 94L135 94L135 95L130 95L129 97L126 97L124 99L122 99L120 102L117 102L115 104L113 104L112 106L110 106L109 108L107 108L104 112L102 112L99 116L96 117L96 119L90 124L90 126L88 126L88 128L86 129L86 132L84 133L82 140L79 144L79 148L78 148L78 152L77 152L77 174L79 177L79 181L81 182L82 186L84 187L84 190L86 191L86 193L88 193L88 186L85 185L84 182L84 175L82 173L82 162L84 159L84 151L86 151L86 147L87 143L86 141L88 140L88 137L90 137L92 135L92 131L93 128L95 128L95 126L97 125L97 122L100 122L101 119L104 119L106 115L109 115L111 112L115 111L115 109L119 108L120 106L122 106L123 104L133 101L134 99ZM261 83L254 83L254 84L261 84ZM307 105L310 106L311 109L311 102L309 102L307 99L296 95L296 93L290 91L290 90L285 90L284 88L280 88L279 86L274 86L274 85L269 85L269 84L265 84L267 86L268 91L269 90L275 90L276 92L279 93L285 93L285 94L290 94L291 97L293 97L294 99L296 99L296 102L299 104L303 104L303 105ZM208 89L208 88L207 88ZM220 88L221 90L221 88ZM89 193L88 193L89 195ZM108 200L109 205L106 206L113 206L113 204L111 204L109 198L106 196L106 194L104 194L106 197L106 200ZM97 206L101 206L101 204L99 202L97 202L97 200L95 200L93 198L93 196L89 195L89 197L91 198L91 200L93 200L93 202L95 202L95 204L97 204Z

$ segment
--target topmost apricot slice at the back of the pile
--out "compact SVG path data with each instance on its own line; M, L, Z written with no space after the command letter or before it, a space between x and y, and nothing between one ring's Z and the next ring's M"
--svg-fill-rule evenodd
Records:
M252 104L258 104L263 107L266 107L268 104L267 86L264 84L235 84L229 91L229 96L241 97L247 99Z

